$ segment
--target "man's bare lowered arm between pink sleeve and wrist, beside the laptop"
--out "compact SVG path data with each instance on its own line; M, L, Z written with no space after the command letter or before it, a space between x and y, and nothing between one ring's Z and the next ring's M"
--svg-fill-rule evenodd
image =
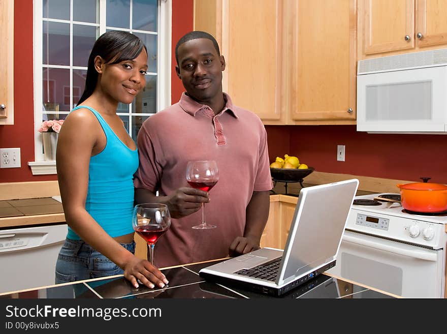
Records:
M244 237L256 238L258 244L269 218L269 195L268 191L254 191L245 210Z

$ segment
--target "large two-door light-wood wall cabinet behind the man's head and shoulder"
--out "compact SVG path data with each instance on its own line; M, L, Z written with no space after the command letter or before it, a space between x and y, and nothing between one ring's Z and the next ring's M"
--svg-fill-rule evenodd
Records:
M250 19L247 19L249 15ZM355 124L355 0L195 0L223 90L266 125Z

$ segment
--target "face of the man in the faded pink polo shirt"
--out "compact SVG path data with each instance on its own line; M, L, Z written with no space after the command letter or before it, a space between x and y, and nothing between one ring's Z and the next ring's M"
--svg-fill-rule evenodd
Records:
M222 94L225 59L206 38L187 41L178 47L177 76L186 93L196 101L209 101Z

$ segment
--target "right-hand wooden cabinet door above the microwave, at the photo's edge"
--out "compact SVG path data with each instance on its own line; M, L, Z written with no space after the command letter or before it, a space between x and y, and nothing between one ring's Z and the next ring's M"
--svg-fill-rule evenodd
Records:
M418 47L447 44L447 0L417 0Z

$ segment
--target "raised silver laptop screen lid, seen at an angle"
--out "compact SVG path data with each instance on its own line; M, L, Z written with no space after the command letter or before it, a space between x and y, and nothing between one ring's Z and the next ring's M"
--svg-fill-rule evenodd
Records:
M349 179L301 189L277 284L317 269L337 257L358 186L358 179Z

